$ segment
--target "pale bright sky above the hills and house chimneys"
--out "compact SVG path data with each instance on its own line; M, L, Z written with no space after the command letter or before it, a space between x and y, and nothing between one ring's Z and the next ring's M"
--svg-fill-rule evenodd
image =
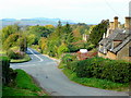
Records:
M121 23L129 15L131 0L0 0L1 19L48 17L97 24L102 20Z

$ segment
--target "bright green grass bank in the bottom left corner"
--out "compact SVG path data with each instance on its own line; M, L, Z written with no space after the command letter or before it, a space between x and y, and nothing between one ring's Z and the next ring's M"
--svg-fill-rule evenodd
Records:
M3 86L2 96L47 96L26 72L23 70L15 71L17 76L14 79L14 85Z

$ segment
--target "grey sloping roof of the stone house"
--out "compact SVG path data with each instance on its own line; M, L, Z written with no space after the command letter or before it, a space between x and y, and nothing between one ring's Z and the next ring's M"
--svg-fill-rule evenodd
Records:
M114 41L121 41L118 46L112 47ZM114 29L112 33L99 41L103 47L99 52L106 53L107 50L117 53L121 50L129 41L131 41L131 34L128 29ZM104 51L106 49L106 51Z

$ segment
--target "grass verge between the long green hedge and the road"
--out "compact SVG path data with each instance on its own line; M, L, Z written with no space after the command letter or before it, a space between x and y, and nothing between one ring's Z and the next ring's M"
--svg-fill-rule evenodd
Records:
M107 79L78 77L76 74L69 69L63 69L62 72L73 82L88 87L96 87L108 90L129 91L129 84L114 83Z

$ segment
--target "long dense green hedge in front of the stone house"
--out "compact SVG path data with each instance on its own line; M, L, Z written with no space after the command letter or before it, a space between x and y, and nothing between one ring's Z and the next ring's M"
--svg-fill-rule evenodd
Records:
M99 57L68 63L79 77L96 77L118 83L131 82L131 63Z

